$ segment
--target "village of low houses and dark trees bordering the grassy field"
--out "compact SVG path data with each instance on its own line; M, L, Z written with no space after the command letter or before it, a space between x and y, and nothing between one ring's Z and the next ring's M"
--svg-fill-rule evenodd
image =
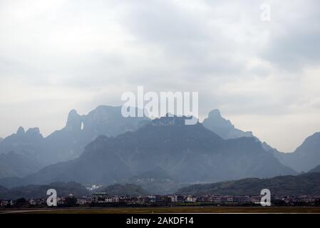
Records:
M233 195L146 195L130 197L112 196L96 192L91 196L57 197L57 207L148 207L148 206L260 206L261 196ZM36 199L0 199L0 207L47 207L46 197ZM272 197L272 206L320 206L319 196Z

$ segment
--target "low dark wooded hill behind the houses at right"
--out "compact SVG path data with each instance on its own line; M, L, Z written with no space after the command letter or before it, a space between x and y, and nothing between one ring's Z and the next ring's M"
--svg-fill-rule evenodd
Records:
M182 187L183 195L259 195L269 189L273 196L320 195L320 172L269 179L247 178L228 182Z

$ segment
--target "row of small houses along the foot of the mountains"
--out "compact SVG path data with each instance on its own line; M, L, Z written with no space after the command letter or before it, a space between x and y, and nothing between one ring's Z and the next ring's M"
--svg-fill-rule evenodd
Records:
M68 197L73 197L69 195ZM66 204L68 197L58 197L58 206ZM76 198L75 198L76 199ZM103 205L103 204L194 204L194 203L210 203L210 204L259 204L261 196L233 196L233 195L203 195L200 197L194 195L147 195L139 197L130 196L110 196L106 192L97 192L91 196L79 197L76 199L78 205ZM272 202L278 204L316 204L320 202L320 196L311 197L306 195L301 196L286 196L273 197ZM281 202L281 203L280 203ZM29 199L28 203L33 206L46 205L46 198ZM14 200L0 199L0 206L6 207L14 205Z

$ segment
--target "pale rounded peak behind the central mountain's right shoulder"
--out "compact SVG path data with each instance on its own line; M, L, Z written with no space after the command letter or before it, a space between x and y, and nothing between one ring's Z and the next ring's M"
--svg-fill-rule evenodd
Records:
M251 131L242 131L234 127L230 120L222 118L220 110L212 110L208 117L203 120L202 124L205 128L212 130L217 135L224 139L254 137Z

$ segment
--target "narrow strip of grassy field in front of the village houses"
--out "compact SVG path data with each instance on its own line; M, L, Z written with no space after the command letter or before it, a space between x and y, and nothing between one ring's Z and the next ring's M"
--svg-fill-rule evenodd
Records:
M11 209L1 213L32 214L148 214L148 213L320 213L320 207L117 207Z

